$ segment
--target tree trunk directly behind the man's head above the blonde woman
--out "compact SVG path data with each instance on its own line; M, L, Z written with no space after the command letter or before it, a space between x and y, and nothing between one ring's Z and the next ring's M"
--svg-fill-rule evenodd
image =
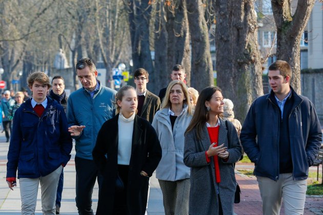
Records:
M169 74L176 64L184 66L186 72L186 81L190 85L191 77L191 53L190 37L187 18L187 8L184 1L174 1L166 6L167 14L167 33L168 33L168 51L167 51L167 80ZM167 84L168 84L167 82Z

